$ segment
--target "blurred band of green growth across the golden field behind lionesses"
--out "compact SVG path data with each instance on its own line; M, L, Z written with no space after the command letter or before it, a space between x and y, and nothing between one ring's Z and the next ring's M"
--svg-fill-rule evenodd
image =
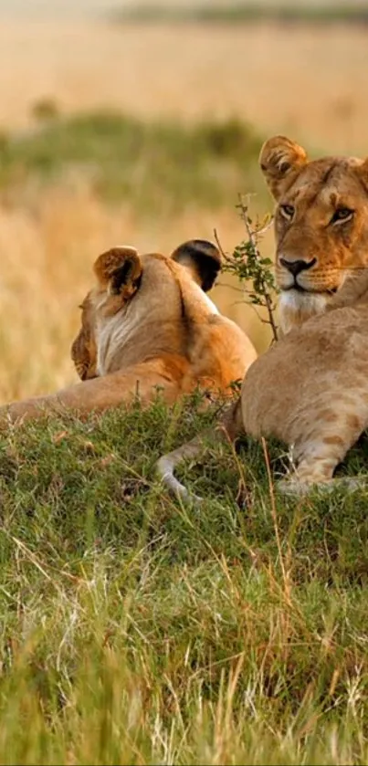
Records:
M0 141L0 194L24 194L66 173L84 174L96 194L127 199L154 215L183 205L224 205L244 188L261 186L261 139L236 120L140 121L117 112L61 117L51 102L36 104L37 127ZM250 184L250 185L249 185Z

